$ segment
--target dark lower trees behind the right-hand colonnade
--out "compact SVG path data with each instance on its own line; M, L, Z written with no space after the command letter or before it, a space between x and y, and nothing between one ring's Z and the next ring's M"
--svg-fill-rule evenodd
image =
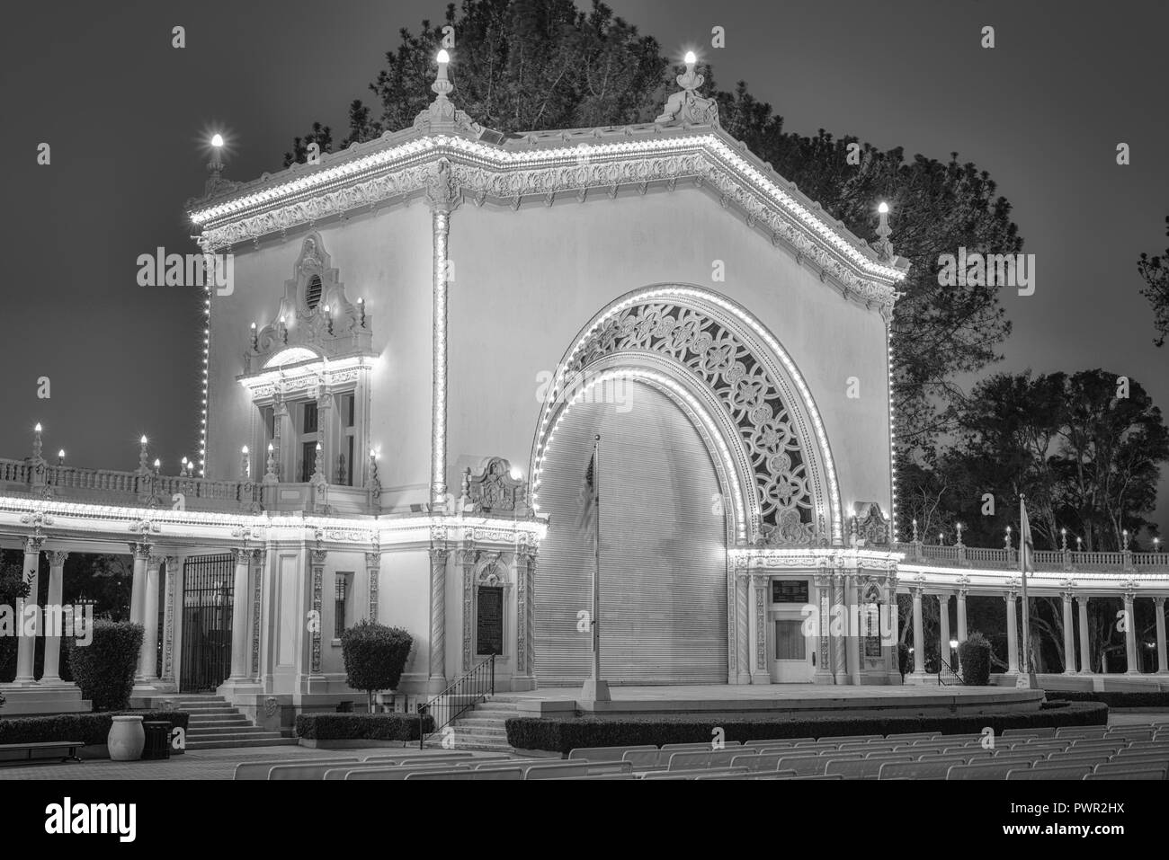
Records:
M899 470L900 515L919 536L1001 546L1026 497L1037 546L1115 550L1150 527L1169 430L1140 383L1101 369L978 382L956 410L954 445ZM989 497L989 504L988 504ZM949 542L952 538L947 538ZM1017 536L1015 546L1018 546Z

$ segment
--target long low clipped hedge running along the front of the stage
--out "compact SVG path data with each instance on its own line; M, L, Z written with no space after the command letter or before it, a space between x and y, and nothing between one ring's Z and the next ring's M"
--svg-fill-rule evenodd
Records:
M891 735L907 731L941 731L943 735L977 734L988 726L1004 729L1049 726L1105 726L1108 706L1073 702L1066 708L1018 714L971 716L848 716L773 720L507 720L507 743L516 749L568 752L580 747L631 747L636 744L703 743L721 728L727 741L777 741L784 737L841 737L843 735Z

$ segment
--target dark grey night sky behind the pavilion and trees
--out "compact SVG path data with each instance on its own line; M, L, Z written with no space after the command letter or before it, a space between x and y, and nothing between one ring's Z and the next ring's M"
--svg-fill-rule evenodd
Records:
M720 88L746 79L788 131L824 127L907 157L957 151L988 169L1037 258L1033 296L1002 292L1015 332L995 369L1102 367L1169 408L1169 347L1153 346L1135 265L1169 243L1169 4L609 5L664 53L696 48ZM369 100L366 84L399 28L437 22L444 8L47 0L6 9L0 456L28 456L37 421L46 456L64 448L81 466L134 469L143 434L165 472L198 453L201 293L138 286L138 255L196 250L184 202L202 192L213 131L228 139L224 175L236 180L279 169L313 119L340 140L348 103ZM182 50L171 47L175 25L187 30ZM727 34L719 50L715 25ZM996 29L992 50L980 47L983 25ZM457 85L457 55L451 74ZM42 141L49 166L36 164ZM1120 141L1130 166L1115 164ZM51 380L49 400L36 396L40 376ZM1155 519L1165 533L1169 476Z

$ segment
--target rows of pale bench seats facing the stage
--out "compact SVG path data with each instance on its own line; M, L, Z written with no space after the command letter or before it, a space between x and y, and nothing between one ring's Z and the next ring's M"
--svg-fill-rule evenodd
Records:
M236 779L1165 779L1169 722L942 735L574 749L567 760L435 750L247 762Z

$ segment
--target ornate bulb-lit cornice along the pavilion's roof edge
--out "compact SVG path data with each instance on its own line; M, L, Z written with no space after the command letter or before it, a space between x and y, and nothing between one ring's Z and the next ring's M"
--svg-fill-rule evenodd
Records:
M615 130L530 134L489 145L462 137L399 133L323 157L242 186L230 196L199 201L189 210L207 250L283 234L382 201L406 200L431 181L434 165L450 162L462 194L477 204L518 207L523 199L552 204L558 194L586 199L592 188L644 193L650 183L708 185L724 207L786 242L821 266L843 291L880 308L891 307L908 262L883 263L876 251L830 219L794 185L746 147L713 127Z

